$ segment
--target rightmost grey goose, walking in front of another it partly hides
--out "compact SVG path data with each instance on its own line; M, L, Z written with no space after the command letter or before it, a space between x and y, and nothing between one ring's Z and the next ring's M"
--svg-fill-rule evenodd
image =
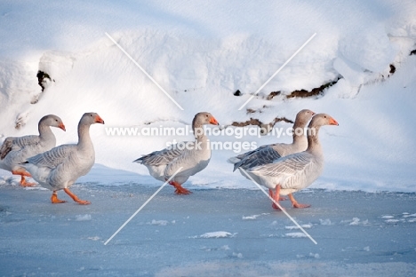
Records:
M294 208L310 207L297 202L292 193L312 184L324 170L324 154L318 139L318 131L324 125L339 124L331 115L315 115L308 125L308 148L305 151L247 169L247 172L257 177L260 185L268 187L275 202L279 201L280 195L289 195ZM272 207L279 210L275 203Z

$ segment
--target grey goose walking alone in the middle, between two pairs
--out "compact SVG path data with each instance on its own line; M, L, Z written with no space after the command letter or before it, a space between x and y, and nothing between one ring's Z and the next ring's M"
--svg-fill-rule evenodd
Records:
M190 194L190 191L181 185L190 176L204 170L211 159L211 147L204 133L204 124L219 125L210 113L198 113L192 121L195 141L182 142L163 150L143 155L133 162L144 164L153 178L163 182L171 178L179 170L169 181L169 184L175 187L175 194Z

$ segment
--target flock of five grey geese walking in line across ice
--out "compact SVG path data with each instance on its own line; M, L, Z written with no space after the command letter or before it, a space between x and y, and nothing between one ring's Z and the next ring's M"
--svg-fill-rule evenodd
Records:
M0 148L0 168L20 175L21 186L34 186L26 177L34 178L41 186L52 190L52 203L60 200L57 191L64 190L75 202L80 200L69 187L77 178L84 176L95 162L95 152L90 137L90 126L104 124L100 115L85 113L78 123L78 143L56 146L56 139L50 127L65 131L65 125L56 115L45 115L38 123L39 135L6 138ZM308 124L309 123L309 124ZM162 181L169 181L176 194L190 194L182 186L190 176L204 170L211 160L211 147L203 129L204 124L219 125L210 113L198 113L192 121L195 140L187 147L170 146L141 156L139 162L148 168L149 174ZM308 124L308 136L305 127ZM293 124L291 144L276 143L260 146L250 152L228 159L234 170L240 170L245 178L268 188L274 200L272 207L279 210L277 202L288 195L294 208L308 208L308 204L297 202L293 193L307 186L319 177L324 168L324 154L318 139L319 128L324 125L338 125L330 115L318 114L304 109L296 115Z

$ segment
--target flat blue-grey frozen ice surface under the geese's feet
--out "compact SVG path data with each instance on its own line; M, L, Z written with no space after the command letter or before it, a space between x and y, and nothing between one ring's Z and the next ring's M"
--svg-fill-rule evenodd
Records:
M156 187L74 186L74 193L92 202L89 206L61 192L68 202L52 205L48 191L0 189L1 275L405 276L416 270L416 222L392 224L382 218L414 214L414 193L314 189L298 194L312 204L309 209L281 202L301 226L312 226L307 230L315 245L299 230L288 232L292 221L273 210L260 191L205 189L178 196L164 187L104 245ZM262 213L268 214L242 218ZM364 218L366 224L350 225Z

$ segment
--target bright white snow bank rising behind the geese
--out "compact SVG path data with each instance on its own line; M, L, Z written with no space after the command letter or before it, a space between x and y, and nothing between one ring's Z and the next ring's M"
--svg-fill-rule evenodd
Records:
M123 4L29 1L3 4L0 45L0 134L36 133L45 114L59 115L66 133L58 144L76 141L76 124L94 111L105 126L92 126L96 162L121 180L158 184L140 154L192 136L117 136L110 127L183 127L199 111L221 124L257 118L294 118L308 107L332 115L340 127L321 133L326 169L313 185L328 189L414 192L416 4L412 1L275 2L156 1ZM183 111L168 99L113 37L145 68ZM284 64L308 37L316 37L242 110L238 107ZM396 73L389 73L393 64ZM36 73L51 76L44 91ZM324 96L286 99L338 83ZM233 93L239 90L242 96ZM271 91L282 93L274 99ZM38 99L36 104L31 104ZM247 109L255 111L247 113ZM20 129L15 129L16 125ZM276 127L288 128L288 123ZM289 137L212 136L212 141L250 141L257 146ZM216 150L212 162L190 182L196 187L253 188L226 163L235 149ZM99 170L100 171L100 170ZM97 172L97 171L96 171ZM2 173L7 177L8 173ZM107 174L110 175L110 174ZM117 185L116 178L89 175L82 182Z

